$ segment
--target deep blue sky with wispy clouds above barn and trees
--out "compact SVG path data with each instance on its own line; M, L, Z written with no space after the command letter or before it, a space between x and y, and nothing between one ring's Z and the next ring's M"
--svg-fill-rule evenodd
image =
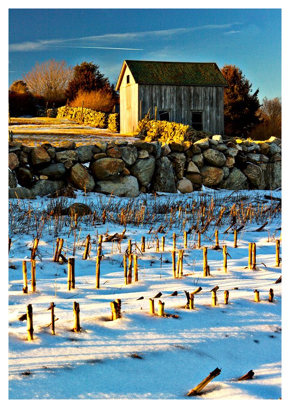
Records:
M281 97L281 9L9 7L9 85L52 58L111 82L125 59L216 62L241 68L260 100Z

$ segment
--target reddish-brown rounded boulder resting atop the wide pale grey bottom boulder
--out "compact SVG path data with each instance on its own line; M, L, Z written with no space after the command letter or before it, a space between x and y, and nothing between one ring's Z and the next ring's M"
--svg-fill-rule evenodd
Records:
M115 179L124 168L125 163L123 160L104 157L92 163L91 172L96 180L112 180Z

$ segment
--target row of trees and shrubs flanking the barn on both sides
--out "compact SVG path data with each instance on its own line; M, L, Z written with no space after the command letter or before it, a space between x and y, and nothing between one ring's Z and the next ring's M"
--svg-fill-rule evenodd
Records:
M281 99L263 98L242 70L235 65L224 65L221 72L228 83L224 89L225 135L267 140L281 137ZM114 84L100 72L93 62L82 62L73 68L65 61L54 59L39 64L13 82L9 89L11 116L35 114L37 106L49 108L84 106L96 111L112 112L118 103Z

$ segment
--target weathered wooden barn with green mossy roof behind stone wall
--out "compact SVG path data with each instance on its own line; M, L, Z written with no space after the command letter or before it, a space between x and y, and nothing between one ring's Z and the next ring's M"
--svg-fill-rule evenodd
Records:
M125 60L116 85L120 132L136 132L150 109L157 120L223 135L225 86L214 62Z

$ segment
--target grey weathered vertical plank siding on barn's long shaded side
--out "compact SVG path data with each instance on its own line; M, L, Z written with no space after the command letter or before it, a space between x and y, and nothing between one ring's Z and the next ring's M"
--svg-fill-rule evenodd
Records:
M154 117L156 106L157 109L170 110L170 121L191 125L192 111L202 111L203 130L224 135L224 88L222 86L139 84L138 98L138 101L134 100L134 104L137 105L137 115L140 100L142 100L142 117L150 107Z

